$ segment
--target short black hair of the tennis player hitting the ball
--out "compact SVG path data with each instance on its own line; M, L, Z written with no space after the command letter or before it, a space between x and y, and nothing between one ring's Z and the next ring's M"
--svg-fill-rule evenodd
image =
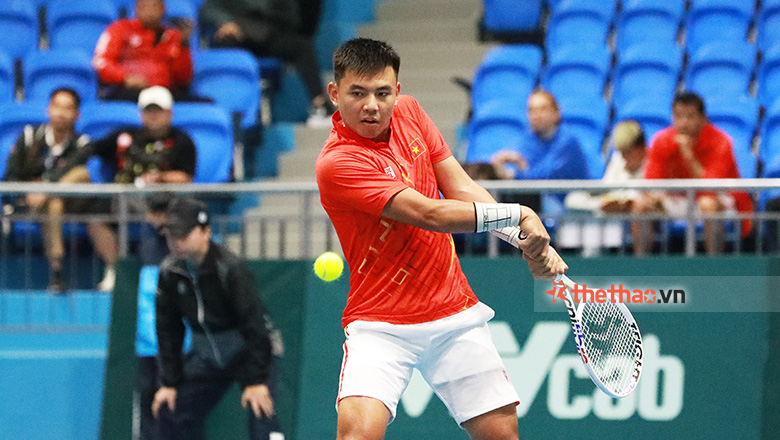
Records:
M333 54L333 77L338 83L349 72L360 76L374 75L393 68L396 78L401 68L401 57L383 41L355 38L342 44Z

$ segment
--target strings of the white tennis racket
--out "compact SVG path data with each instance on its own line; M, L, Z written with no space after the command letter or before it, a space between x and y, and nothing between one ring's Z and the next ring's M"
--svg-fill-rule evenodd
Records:
M586 303L582 310L588 363L601 382L615 393L631 383L635 335L616 304Z

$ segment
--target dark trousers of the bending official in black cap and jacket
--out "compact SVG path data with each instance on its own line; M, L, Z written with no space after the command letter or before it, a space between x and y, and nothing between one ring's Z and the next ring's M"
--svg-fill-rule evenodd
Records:
M211 368L195 357L185 361L184 374L184 383L176 387L176 411L171 412L167 406L160 410L155 437L158 440L205 439L208 415L236 381L232 371ZM272 366L269 384L273 383L273 376ZM247 419L251 440L268 440L270 433L281 431L276 417L258 418L250 409Z

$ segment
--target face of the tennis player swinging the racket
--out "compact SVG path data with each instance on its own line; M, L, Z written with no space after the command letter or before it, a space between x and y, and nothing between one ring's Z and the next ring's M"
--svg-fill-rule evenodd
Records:
M390 66L373 76L347 71L338 84L328 84L328 95L341 112L344 125L373 140L387 135L400 90L401 84Z

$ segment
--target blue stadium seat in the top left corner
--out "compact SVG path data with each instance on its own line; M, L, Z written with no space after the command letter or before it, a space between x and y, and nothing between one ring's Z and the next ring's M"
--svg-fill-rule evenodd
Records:
M0 1L2 48L12 58L21 58L38 47L38 13L28 0Z

